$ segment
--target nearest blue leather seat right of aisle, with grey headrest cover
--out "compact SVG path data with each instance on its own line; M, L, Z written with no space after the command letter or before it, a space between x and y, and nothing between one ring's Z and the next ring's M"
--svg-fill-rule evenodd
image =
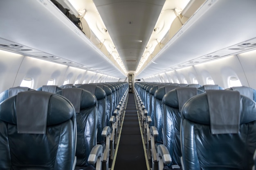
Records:
M256 103L237 91L207 90L182 108L186 170L251 170L256 149Z

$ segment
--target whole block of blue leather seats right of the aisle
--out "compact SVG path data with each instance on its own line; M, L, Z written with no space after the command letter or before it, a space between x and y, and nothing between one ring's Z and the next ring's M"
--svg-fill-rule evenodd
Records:
M252 170L256 90L143 82L135 94L152 170Z

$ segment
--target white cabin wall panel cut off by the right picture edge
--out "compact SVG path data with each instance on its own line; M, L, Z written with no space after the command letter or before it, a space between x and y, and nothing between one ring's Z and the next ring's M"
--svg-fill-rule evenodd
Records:
M246 81L249 87L256 89L255 73L256 73L256 50L238 54L238 59L243 67L246 75ZM245 83L242 82L242 85Z

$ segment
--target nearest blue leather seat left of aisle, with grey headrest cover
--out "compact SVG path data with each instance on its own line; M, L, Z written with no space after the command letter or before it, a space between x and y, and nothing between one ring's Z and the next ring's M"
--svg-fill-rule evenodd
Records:
M76 116L62 96L20 92L0 104L1 170L72 170Z

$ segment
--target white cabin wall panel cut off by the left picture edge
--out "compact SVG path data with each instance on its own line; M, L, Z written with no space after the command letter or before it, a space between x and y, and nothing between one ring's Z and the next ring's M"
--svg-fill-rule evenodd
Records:
M0 50L0 93L13 86L24 55Z

